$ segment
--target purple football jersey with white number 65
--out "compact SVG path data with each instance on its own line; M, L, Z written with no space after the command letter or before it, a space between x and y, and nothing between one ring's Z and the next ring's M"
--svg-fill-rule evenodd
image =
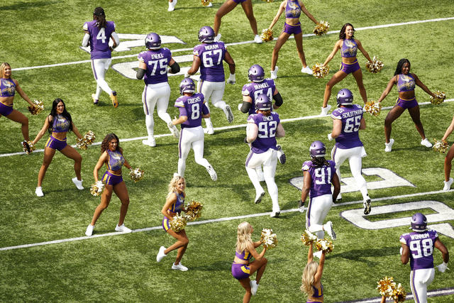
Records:
M341 134L336 138L336 147L341 149L362 146L359 131L362 119L362 107L358 104L338 107L331 113L331 118L342 120Z

